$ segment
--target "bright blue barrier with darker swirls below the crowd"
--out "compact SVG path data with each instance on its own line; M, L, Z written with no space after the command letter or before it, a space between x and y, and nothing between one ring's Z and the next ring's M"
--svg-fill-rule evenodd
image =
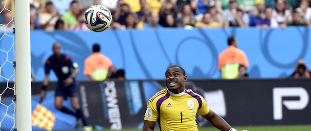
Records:
M170 64L184 67L190 79L218 79L221 75L216 69L218 54L227 48L227 37L234 35L239 41L238 48L248 57L251 78L283 78L294 72L298 59L311 65L311 57L308 57L311 56L310 30L308 27L288 27L268 30L164 28L100 33L31 31L32 72L43 81L44 64L52 55L52 44L60 42L62 52L69 54L82 69L77 79L87 80L83 75L84 60L92 53L92 45L99 43L101 52L119 69L125 70L128 80L164 79ZM12 38L5 35L0 40L0 49L8 50L11 46ZM0 53L0 64L5 60L6 53ZM8 60L14 61L11 56ZM5 63L2 67L12 68L12 64ZM12 74L13 71L1 70L6 78ZM57 81L55 75L51 75L51 80ZM0 81L5 80L0 78Z

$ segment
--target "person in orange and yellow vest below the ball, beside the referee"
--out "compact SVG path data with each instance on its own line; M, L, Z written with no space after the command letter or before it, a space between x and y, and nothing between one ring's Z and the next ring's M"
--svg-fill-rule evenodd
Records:
M100 53L99 44L94 44L93 54L84 61L83 74L91 81L104 81L110 66L112 66L111 60Z

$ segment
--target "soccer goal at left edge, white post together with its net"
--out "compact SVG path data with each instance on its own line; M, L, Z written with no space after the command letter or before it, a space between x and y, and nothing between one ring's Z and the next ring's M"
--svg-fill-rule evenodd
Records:
M1 0L0 17L0 130L31 131L29 0Z

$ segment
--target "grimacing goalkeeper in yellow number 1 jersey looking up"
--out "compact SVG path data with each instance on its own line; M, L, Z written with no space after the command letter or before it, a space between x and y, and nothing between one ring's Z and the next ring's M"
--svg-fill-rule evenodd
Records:
M142 131L154 131L156 121L160 131L199 131L196 114L221 131L237 131L210 110L202 96L185 89L187 75L182 67L170 66L165 77L167 89L149 99Z

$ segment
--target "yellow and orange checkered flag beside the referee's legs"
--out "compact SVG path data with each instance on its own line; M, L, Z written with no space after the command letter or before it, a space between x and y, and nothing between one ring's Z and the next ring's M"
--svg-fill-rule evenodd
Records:
M31 123L35 127L52 131L55 125L55 115L41 103L38 103L33 111Z

